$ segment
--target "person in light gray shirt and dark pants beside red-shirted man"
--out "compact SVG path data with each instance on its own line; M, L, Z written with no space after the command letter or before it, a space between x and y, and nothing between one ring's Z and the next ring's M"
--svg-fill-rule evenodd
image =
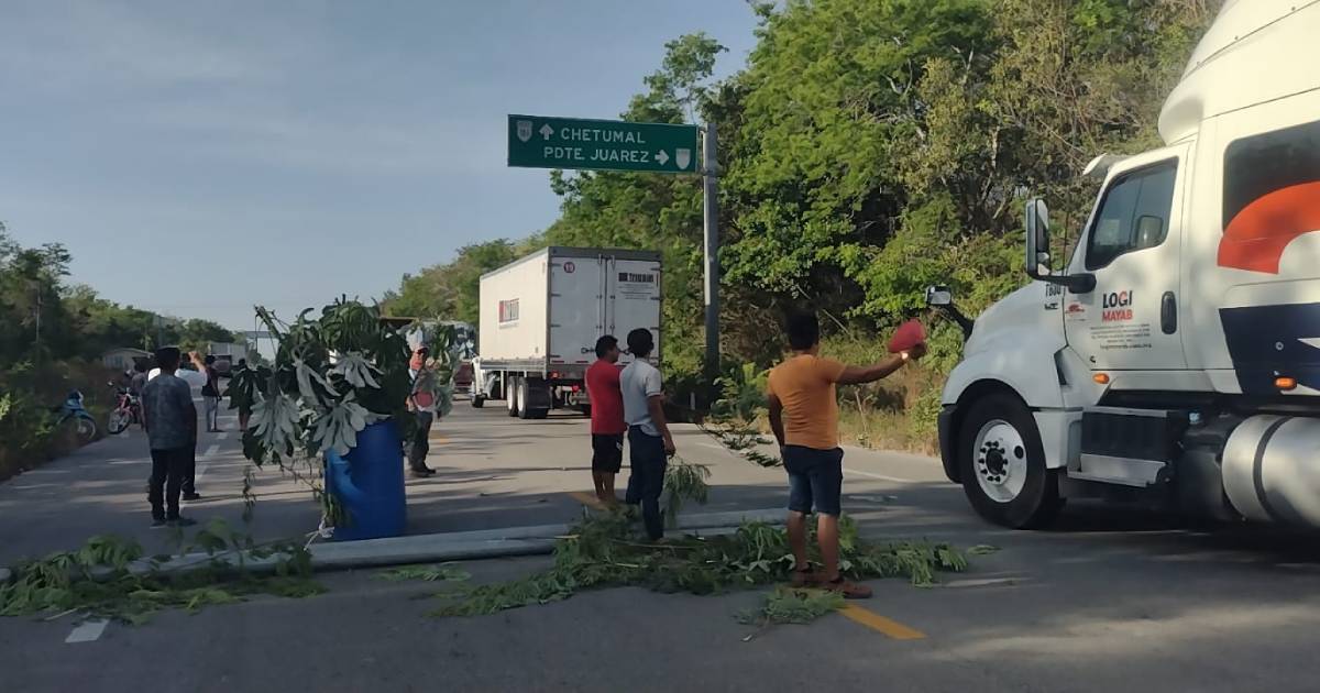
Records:
M668 457L675 453L673 437L664 417L660 371L647 362L653 348L651 330L639 327L628 333L632 363L619 374L623 420L628 424L628 461L632 465L624 500L630 506L642 504L642 520L652 541L664 536L660 491L664 490Z

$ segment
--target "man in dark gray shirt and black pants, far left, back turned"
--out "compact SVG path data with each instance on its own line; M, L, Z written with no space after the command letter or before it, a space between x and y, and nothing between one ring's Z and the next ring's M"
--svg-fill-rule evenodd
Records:
M152 446L152 478L147 495L152 503L152 527L197 524L178 515L183 470L197 438L193 389L174 375L178 360L177 347L157 350L156 363L161 372L143 387L143 421Z

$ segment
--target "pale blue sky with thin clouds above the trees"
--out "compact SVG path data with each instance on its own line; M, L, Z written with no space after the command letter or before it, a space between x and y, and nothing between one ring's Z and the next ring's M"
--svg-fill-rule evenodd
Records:
M614 117L743 0L0 4L0 220L73 281L234 329L554 220L506 115Z

